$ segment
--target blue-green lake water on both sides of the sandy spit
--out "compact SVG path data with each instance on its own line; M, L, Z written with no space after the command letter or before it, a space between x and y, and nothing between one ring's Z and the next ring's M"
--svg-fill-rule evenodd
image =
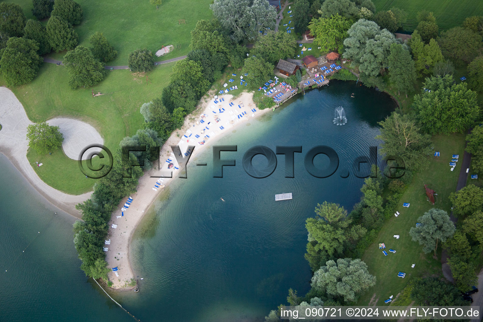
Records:
M332 123L338 106L347 115L344 126ZM343 179L342 169L352 170L356 156L369 155L369 146L379 143L377 122L395 106L373 89L331 82L217 141L238 146L238 152L222 153L237 166L213 178L211 148L190 160L188 179L166 189L133 238L140 292L112 296L141 321L221 322L262 321L286 303L290 287L304 295L311 279L303 257L305 219L324 200L352 209L363 179L352 173ZM295 178L284 178L283 155L269 177L246 174L241 159L255 145L273 151L301 145ZM339 155L339 169L329 178L314 178L304 167L305 154L317 145ZM319 155L314 163L323 168L326 159ZM197 167L197 161L208 166ZM253 163L263 168L267 161L256 156ZM0 321L132 321L78 268L74 219L46 203L1 154L0 166ZM275 202L274 195L284 192L293 199Z

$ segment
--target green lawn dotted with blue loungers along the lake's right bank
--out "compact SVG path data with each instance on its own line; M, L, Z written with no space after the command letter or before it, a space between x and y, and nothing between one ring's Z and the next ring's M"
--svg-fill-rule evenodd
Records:
M358 304L368 305L375 295L374 300L379 298L377 305L384 305L384 300L390 295L396 296L407 283L413 278L427 275L440 275L440 250L438 259L433 258L433 253L425 254L422 246L411 240L409 229L416 224L419 216L427 210L435 207L451 211L451 203L448 200L450 193L456 189L460 167L450 171L449 162L452 154L463 155L465 139L462 134L451 136L433 137L434 151L440 152L440 157L431 157L429 168L418 171L408 186L398 207L400 215L392 217L384 224L376 242L364 253L362 260L369 266L369 272L377 277L376 286L370 288L362 295ZM425 184L431 184L430 188L438 194L436 204L433 206L426 201ZM402 203L411 204L409 208L403 208ZM400 235L399 239L394 235ZM387 256L379 249L379 243L385 243ZM396 253L389 252L396 250ZM411 268L412 264L416 264ZM398 272L405 272L404 279L398 277ZM374 304L374 302L372 302Z

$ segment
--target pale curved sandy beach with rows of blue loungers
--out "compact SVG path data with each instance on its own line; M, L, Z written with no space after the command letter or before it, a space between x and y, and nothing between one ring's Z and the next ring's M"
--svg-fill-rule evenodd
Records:
M117 210L113 212L111 220L108 223L109 235L107 237L111 243L110 245L104 245L104 247L109 249L106 252L106 261L109 267L118 268L117 273L119 276L115 276L113 271L109 272L109 280L113 282L112 287L114 289L129 290L133 288L127 286L127 283L131 279L136 279L137 276L133 272L129 261L129 246L132 235L137 225L141 222L142 217L162 193L164 187L176 180L179 171L182 170L176 162L170 146L179 145L184 154L188 145L194 145L195 149L190 158L190 160L193 160L196 155L206 148L213 146L216 140L231 133L231 130L235 127L245 125L250 119L271 111L271 109L258 110L253 102L252 93L242 93L238 98L234 98L233 106L229 106L229 103L232 101L232 95L223 95L219 96L219 98L223 98L224 100L220 101L218 99L218 103L215 103L212 97L208 102L202 104L202 112L198 112L196 115L195 113L187 115L183 128L174 131L161 148L159 160L160 170L168 170L168 165L172 163L173 167L171 170L173 170L173 178L162 178L163 181L159 182L159 188L155 191L153 188L155 188L157 178L151 178L151 176L159 175L156 174L158 171L151 169L145 172L139 179L137 192L131 195L133 201L129 205L129 208L124 211L124 216L122 216L122 208L128 197L124 198ZM201 100L203 101L203 98ZM252 109L256 109L256 112L252 112ZM220 110L223 112L220 113ZM242 114L242 112L246 112L246 114L238 118L238 115ZM201 118L201 115L204 117ZM195 118L195 120L190 121L192 118ZM216 122L216 118L220 121ZM204 123L201 123L200 120L203 120ZM233 123L231 124L230 121L233 121ZM220 128L220 126L223 128ZM202 131L203 134L201 134ZM199 135L199 138L196 138L196 135ZM198 142L202 141L205 135L209 136L209 138L207 138L206 143L199 145ZM172 162L166 162L168 160ZM117 227L113 228L113 224L117 225Z

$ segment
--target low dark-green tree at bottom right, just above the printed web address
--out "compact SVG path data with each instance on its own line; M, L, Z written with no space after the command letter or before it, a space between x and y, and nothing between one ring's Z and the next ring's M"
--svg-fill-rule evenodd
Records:
M455 286L437 277L425 277L412 284L411 299L416 305L426 306L461 306L461 293Z

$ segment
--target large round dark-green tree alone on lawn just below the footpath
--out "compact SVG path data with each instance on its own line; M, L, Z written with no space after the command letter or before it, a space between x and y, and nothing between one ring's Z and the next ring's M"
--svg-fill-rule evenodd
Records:
M67 52L62 63L69 73L68 83L72 89L79 86L93 86L106 76L102 63L94 58L91 51L84 46L77 46L74 50Z

